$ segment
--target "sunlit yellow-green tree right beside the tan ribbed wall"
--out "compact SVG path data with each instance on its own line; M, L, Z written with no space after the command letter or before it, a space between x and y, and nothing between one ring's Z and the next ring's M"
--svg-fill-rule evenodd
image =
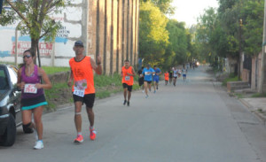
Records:
M141 3L139 12L139 58L145 63L160 65L168 46L168 19L151 2Z

